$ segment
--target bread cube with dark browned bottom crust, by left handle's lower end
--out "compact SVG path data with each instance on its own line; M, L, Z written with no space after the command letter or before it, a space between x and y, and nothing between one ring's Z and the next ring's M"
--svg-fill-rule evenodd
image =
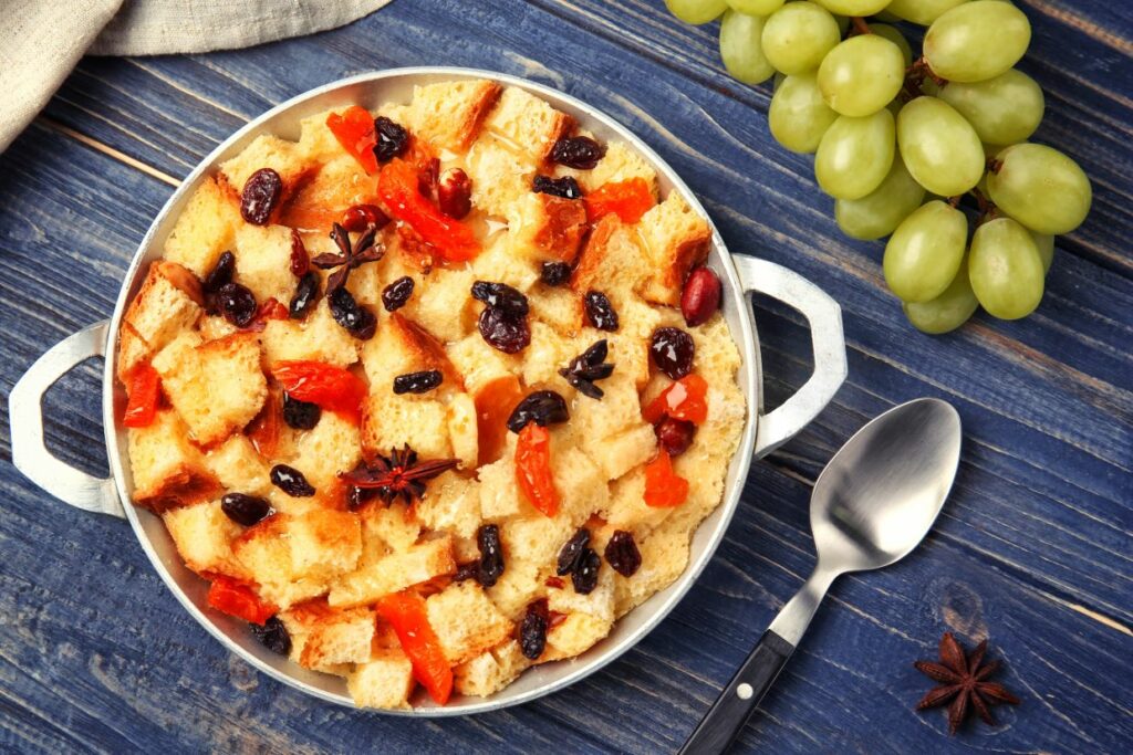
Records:
M159 410L150 426L129 428L128 444L136 505L160 514L220 490L177 412Z

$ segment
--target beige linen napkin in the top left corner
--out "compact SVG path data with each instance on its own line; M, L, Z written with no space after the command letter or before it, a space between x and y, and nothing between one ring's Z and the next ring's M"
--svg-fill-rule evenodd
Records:
M246 48L348 24L390 0L0 0L0 152L84 54Z

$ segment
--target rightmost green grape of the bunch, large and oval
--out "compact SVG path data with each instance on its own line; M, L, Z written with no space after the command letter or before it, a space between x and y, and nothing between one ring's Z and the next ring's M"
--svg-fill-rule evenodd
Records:
M1073 160L1041 144L1016 144L996 155L988 195L999 209L1038 233L1070 233L1090 212L1090 179Z

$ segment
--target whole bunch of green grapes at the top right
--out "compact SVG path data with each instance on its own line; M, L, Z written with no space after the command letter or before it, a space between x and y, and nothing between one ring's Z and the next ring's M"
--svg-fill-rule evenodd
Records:
M721 57L740 81L776 77L772 135L815 155L845 233L889 237L885 280L917 328L1039 306L1054 237L1082 223L1091 189L1073 160L1026 141L1045 102L1014 68L1031 41L1022 11L1006 0L665 3L690 24L723 17ZM920 57L893 23L928 27Z

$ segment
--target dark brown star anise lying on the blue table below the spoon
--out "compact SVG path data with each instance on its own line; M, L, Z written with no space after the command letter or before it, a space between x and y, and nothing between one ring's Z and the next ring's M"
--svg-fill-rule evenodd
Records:
M936 707L951 701L948 705L948 733L956 733L956 729L968 717L969 707L974 707L983 722L994 726L990 705L999 703L1011 703L1019 705L1019 697L1007 692L1002 684L986 681L999 668L999 661L983 663L983 654L987 652L988 641L985 640L968 658L964 658L964 649L960 646L951 632L945 632L940 638L940 662L917 661L913 666L925 676L939 681L938 687L934 687L925 695L921 702L917 703L917 710Z

